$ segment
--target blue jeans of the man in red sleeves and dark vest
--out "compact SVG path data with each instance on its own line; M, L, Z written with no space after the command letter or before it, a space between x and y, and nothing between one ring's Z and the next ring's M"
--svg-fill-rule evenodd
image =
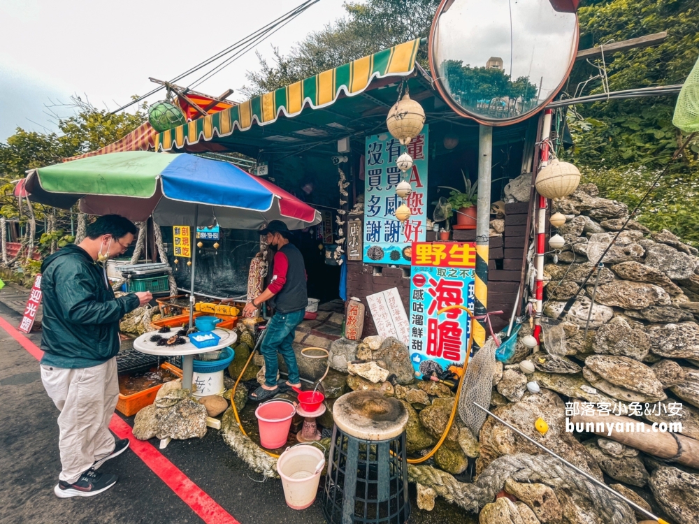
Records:
M260 353L264 356L264 381L271 388L277 385L277 372L279 371L277 353L284 358L284 363L287 365L289 384L298 384L301 381L296 355L291 344L294 342L296 326L301 323L304 314L305 310L275 313L267 323L267 333L260 346Z

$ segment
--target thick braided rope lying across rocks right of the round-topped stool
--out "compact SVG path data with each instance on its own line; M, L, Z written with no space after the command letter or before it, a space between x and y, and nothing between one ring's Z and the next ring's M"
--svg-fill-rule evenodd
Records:
M603 517L604 522L634 524L636 519L626 502L600 488L584 476L565 467L558 459L548 455L517 453L506 455L487 467L473 484L462 483L452 475L431 466L408 465L408 479L433 488L447 502L477 513L485 504L494 502L505 481L540 482L552 488L569 488L586 497Z

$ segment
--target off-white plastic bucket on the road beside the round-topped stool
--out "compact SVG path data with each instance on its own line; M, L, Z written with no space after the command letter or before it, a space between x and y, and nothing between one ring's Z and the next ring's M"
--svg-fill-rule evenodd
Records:
M310 444L294 446L282 453L277 460L277 472L282 477L284 498L291 509L305 509L313 504L324 467L324 453Z

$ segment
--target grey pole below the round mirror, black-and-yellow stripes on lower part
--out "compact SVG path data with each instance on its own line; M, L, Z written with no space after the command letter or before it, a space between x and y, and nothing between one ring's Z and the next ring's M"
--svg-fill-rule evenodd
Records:
M476 210L475 314L484 316L488 308L488 254L490 247L490 181L493 166L493 128L479 126L478 132L478 207ZM487 319L473 323L473 340L483 347Z

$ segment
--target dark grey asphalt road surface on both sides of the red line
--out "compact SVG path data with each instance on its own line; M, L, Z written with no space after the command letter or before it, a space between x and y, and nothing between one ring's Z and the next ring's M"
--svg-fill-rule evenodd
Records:
M20 319L3 303L0 317L13 326ZM41 332L29 339L38 345ZM119 476L110 490L95 497L56 497L53 488L61 470L58 414L41 384L36 359L0 329L1 524L203 522L130 450L101 467ZM124 421L133 425L133 418ZM151 442L157 446L156 439ZM324 522L317 501L303 511L287 507L281 482L259 482L261 476L247 468L216 430L208 430L203 439L173 440L161 453L240 523ZM431 512L419 511L414 486L411 501L410 523L476 522L443 500Z

